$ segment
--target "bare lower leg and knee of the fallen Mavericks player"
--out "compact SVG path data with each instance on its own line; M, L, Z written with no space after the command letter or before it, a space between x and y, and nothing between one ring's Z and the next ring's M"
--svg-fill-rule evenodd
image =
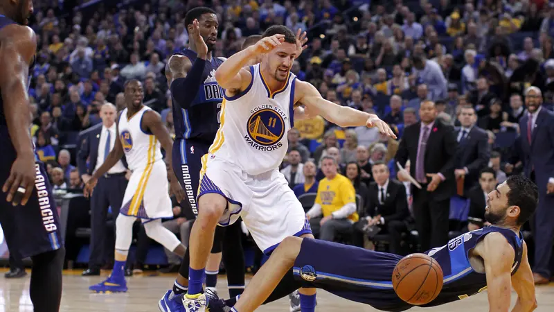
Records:
M279 281L283 279L285 273L294 265L294 261L300 253L301 245L301 238L294 236L285 238L250 281L233 309L238 312L249 312L262 305L279 284ZM303 289L307 292L312 291L312 295L315 294L315 288Z

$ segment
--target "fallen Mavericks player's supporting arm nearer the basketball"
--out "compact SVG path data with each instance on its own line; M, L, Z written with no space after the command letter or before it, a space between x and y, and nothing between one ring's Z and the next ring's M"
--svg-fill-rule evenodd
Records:
M490 233L483 239L479 256L485 261L490 312L508 312L512 291L511 269L514 248L500 233Z

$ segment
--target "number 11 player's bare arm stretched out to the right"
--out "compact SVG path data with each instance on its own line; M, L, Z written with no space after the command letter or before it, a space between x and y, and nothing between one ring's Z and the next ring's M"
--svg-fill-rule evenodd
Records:
M312 114L319 114L340 127L357 127L359 125L377 127L382 134L396 139L393 130L377 115L327 101L312 84L299 80L294 81L296 83L294 103L299 102L305 105Z

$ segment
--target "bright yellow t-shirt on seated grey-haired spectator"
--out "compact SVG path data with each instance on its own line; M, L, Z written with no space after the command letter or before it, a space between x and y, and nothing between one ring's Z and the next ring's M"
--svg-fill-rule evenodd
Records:
M352 182L344 175L337 174L332 180L325 177L319 182L315 203L321 205L323 217L330 216L346 204L356 204L356 191ZM348 219L356 222L359 216L354 212Z

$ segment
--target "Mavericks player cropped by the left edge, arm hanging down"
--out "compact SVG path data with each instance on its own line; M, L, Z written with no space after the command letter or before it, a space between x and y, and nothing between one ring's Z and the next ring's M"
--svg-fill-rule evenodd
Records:
M0 223L10 252L30 257L35 311L59 311L64 243L46 168L33 150L27 94L37 38L30 0L0 2ZM30 66L31 65L31 66Z

